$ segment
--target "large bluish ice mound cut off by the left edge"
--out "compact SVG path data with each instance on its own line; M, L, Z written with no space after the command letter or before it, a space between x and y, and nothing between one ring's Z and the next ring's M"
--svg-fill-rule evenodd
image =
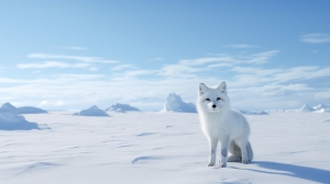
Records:
M0 129L2 130L30 130L40 129L36 123L25 120L16 107L4 103L0 108Z

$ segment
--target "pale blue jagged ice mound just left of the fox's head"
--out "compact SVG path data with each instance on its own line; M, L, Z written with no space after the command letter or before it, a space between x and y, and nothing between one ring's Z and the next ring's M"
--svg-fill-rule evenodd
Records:
M196 113L197 111L195 104L185 103L180 95L170 93L164 103L164 108L162 112Z

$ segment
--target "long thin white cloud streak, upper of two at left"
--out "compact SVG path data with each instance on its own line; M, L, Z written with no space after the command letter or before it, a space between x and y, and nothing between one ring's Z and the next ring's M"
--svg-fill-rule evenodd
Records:
M100 64L118 64L118 60L108 60L100 57L67 56L67 55L50 55L50 54L30 54L28 58L37 59L68 59L81 62L100 62Z

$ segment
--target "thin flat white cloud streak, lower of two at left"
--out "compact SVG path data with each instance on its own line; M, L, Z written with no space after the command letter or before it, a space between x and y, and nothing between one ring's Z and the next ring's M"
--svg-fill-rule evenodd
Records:
M86 68L89 67L88 64L66 64L59 61L45 61L36 64L19 64L16 65L20 69L30 69L30 68Z

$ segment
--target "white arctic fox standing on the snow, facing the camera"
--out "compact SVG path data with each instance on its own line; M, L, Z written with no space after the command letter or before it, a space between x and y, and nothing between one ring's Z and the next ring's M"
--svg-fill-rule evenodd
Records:
M226 82L217 88L200 83L197 111L201 129L210 145L208 166L216 164L218 141L221 143L220 168L226 168L227 161L245 164L252 161L253 152L249 142L250 126L241 113L230 108ZM228 152L230 156L227 158Z

